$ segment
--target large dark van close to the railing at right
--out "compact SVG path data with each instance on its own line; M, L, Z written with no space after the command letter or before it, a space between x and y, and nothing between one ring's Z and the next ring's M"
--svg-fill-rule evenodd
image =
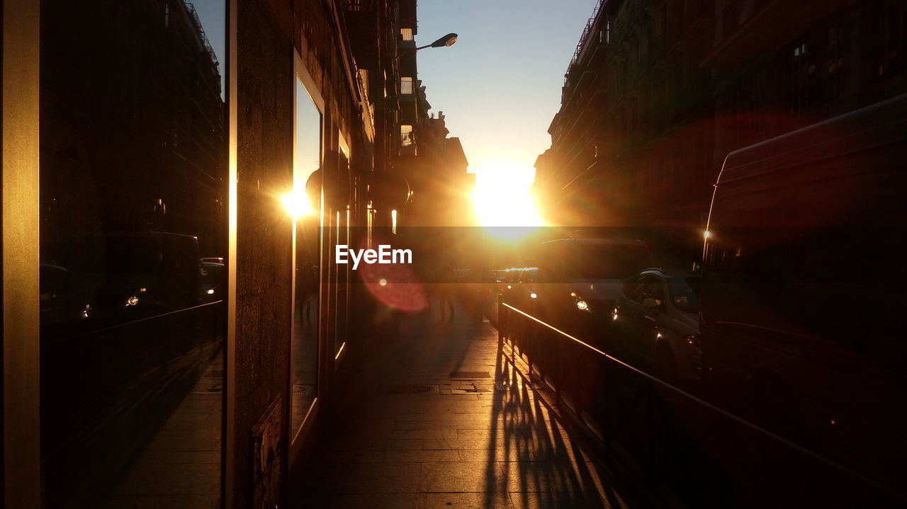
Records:
M705 382L904 491L907 95L730 153L703 251Z

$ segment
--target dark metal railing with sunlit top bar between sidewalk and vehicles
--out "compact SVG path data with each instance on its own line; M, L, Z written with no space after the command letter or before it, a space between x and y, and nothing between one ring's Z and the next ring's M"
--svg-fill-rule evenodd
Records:
M608 317L610 318L610 317ZM728 411L596 341L498 305L498 331L530 374L600 438L610 466L668 506L897 506L907 495ZM679 503L678 503L679 502Z

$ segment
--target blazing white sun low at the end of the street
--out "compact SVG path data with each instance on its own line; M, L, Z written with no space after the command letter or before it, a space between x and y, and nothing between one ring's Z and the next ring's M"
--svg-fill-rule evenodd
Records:
M496 164L476 171L473 208L479 226L498 237L522 236L543 226L530 193L533 168Z

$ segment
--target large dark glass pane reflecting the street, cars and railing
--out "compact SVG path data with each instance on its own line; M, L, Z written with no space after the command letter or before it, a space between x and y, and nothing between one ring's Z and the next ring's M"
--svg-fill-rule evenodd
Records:
M225 13L42 4L48 507L219 506Z

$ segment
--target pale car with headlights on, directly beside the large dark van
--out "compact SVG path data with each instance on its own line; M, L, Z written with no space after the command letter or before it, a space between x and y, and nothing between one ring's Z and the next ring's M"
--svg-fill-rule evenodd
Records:
M696 383L702 375L698 280L660 268L630 277L611 313L609 353L670 383Z

